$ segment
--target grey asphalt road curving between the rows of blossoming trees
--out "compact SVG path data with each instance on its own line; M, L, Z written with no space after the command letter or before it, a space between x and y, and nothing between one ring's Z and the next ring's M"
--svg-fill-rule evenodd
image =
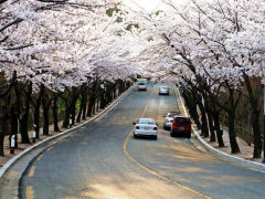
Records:
M193 138L171 138L162 116L178 109L174 92L134 90L107 116L77 129L29 166L20 198L264 198L265 174L200 150ZM159 124L158 139L135 139L132 122Z

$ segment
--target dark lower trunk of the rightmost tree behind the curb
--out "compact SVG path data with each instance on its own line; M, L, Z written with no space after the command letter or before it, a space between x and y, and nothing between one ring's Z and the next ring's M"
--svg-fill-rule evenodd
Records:
M253 158L261 158L262 157L262 136L261 136L261 129L259 129L259 112L257 109L252 112L252 128L254 133Z

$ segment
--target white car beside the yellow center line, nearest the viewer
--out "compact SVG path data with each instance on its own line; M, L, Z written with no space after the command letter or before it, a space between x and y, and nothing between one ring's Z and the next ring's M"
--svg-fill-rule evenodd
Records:
M135 125L134 137L148 136L157 139L158 125L152 118L139 118Z

